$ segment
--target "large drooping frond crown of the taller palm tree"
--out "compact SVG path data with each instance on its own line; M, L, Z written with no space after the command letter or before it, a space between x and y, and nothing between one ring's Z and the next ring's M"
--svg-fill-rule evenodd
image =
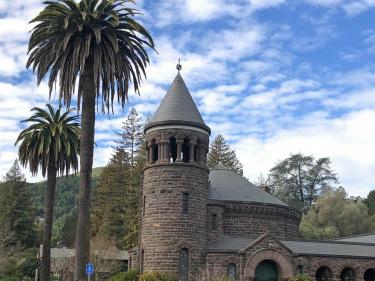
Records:
M85 66L94 72L95 91L102 110L109 110L115 95L124 107L129 81L138 92L149 58L144 47L153 48L148 31L125 7L129 0L54 0L31 23L27 67L37 72L38 84L49 75L50 94L59 87L59 98L70 104L79 79L78 106L82 96L80 75ZM59 83L60 81L60 83Z

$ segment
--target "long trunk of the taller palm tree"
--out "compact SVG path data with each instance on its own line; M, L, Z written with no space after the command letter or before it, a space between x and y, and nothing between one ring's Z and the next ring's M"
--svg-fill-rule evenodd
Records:
M90 258L90 200L94 133L95 86L93 62L92 60L88 60L85 70L82 73L80 184L74 281L83 281L86 279L85 265L89 262Z

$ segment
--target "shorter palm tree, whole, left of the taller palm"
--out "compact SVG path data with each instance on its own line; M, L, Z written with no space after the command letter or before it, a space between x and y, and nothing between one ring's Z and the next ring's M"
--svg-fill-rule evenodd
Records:
M78 169L80 142L79 116L69 116L72 110L56 111L50 104L47 110L34 107L34 114L22 122L32 122L18 136L16 144L21 142L18 157L23 166L29 166L33 175L41 170L47 174L46 206L44 214L43 256L41 281L50 280L51 231L53 205L56 189L56 177L67 175L70 168Z

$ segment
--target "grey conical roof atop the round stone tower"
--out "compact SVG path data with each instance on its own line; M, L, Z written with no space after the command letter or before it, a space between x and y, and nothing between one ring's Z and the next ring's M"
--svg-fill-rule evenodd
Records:
M180 72L177 73L167 94L161 101L146 130L158 125L190 125L210 133L195 105Z

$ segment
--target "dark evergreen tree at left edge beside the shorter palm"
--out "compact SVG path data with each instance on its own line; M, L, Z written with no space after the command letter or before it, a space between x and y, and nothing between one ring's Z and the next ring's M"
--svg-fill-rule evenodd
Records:
M25 248L36 245L36 212L32 206L25 176L18 161L0 184L0 225L8 225L14 233L11 244Z

